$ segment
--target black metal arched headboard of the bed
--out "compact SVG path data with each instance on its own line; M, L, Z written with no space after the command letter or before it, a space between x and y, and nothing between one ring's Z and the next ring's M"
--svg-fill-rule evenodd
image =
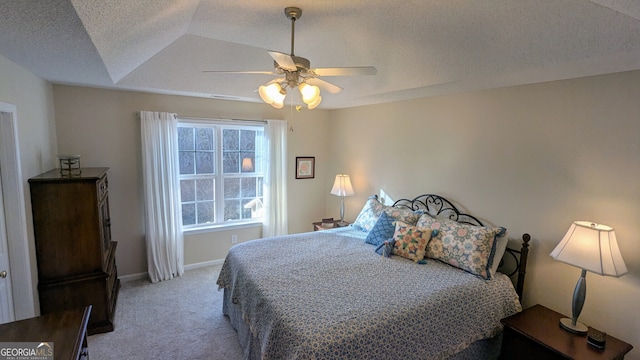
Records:
M482 221L473 215L460 212L451 201L435 194L423 194L413 199L400 199L393 203L393 206L407 208L410 210L424 210L436 218L446 218L459 223L484 226ZM522 293L524 291L524 277L527 269L527 257L529 256L529 234L522 235L522 243L520 249L512 249L507 247L498 270L506 274L514 282L516 293L522 302ZM506 261L505 261L506 260ZM513 279L518 274L517 279Z

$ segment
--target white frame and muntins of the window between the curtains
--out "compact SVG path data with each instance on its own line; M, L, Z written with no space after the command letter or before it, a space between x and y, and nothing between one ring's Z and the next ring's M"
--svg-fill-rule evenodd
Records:
M242 178L242 177L262 177L263 185L264 178L266 176L266 168L269 166L269 159L265 158L265 149L264 143L256 143L255 150L255 164L254 164L254 172L251 173L232 173L232 174L224 174L223 172L223 160L224 160L224 151L223 151L223 133L225 129L233 129L233 130L262 130L263 133L266 130L266 123L263 122L254 122L254 121L229 121L229 120L200 120L200 119L185 119L178 118L178 127L202 127L202 128L213 128L214 130L214 138L215 138L215 165L214 165L214 175L182 175L179 174L180 180L183 179L206 179L212 178L214 179L215 187L214 187L214 201L215 201L215 220L212 223L205 224L192 224L192 225L183 225L182 230L184 232L189 233L199 233L208 230L215 230L219 228L228 228L228 227L246 227L257 224L262 224L263 217L260 218L250 218L250 219L238 219L238 220L224 220L224 179L226 177L230 178ZM264 141L264 136L263 136ZM259 150L259 147L262 147L262 150ZM262 164L259 166L258 161L261 161ZM258 171L260 170L260 171ZM260 190L257 190L260 191ZM262 189L262 195L264 197L265 189ZM197 204L197 202L196 202ZM242 211L242 210L241 210ZM266 209L263 208L263 211ZM180 216L182 216L182 202L181 202L181 211ZM264 214L263 214L264 216Z

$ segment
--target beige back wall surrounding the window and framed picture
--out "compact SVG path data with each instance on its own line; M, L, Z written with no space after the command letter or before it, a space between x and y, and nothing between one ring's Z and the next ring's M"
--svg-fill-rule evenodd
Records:
M288 133L289 232L311 229L325 209L325 173L328 166L329 112L276 110L259 103L241 103L184 96L154 95L76 86L54 85L58 151L81 154L81 165L107 166L112 236L118 241L119 275L146 273L146 248L142 203L140 110L167 111L206 118L284 119ZM316 157L316 178L295 180L296 156ZM185 264L223 259L238 241L261 236L260 228L188 234Z

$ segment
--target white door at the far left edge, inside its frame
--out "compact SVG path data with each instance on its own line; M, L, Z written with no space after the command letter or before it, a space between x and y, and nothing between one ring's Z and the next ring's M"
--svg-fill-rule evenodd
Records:
M2 169L0 169L0 172ZM9 271L9 247L4 217L2 178L0 177L0 324L15 320L13 294L11 293L11 271Z

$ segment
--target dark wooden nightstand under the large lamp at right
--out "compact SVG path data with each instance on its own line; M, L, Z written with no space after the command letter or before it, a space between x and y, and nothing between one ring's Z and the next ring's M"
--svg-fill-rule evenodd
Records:
M607 335L606 346L587 344L586 335L572 334L560 327L566 317L542 305L534 305L501 320L504 325L501 360L512 359L624 359L633 349L626 342Z

